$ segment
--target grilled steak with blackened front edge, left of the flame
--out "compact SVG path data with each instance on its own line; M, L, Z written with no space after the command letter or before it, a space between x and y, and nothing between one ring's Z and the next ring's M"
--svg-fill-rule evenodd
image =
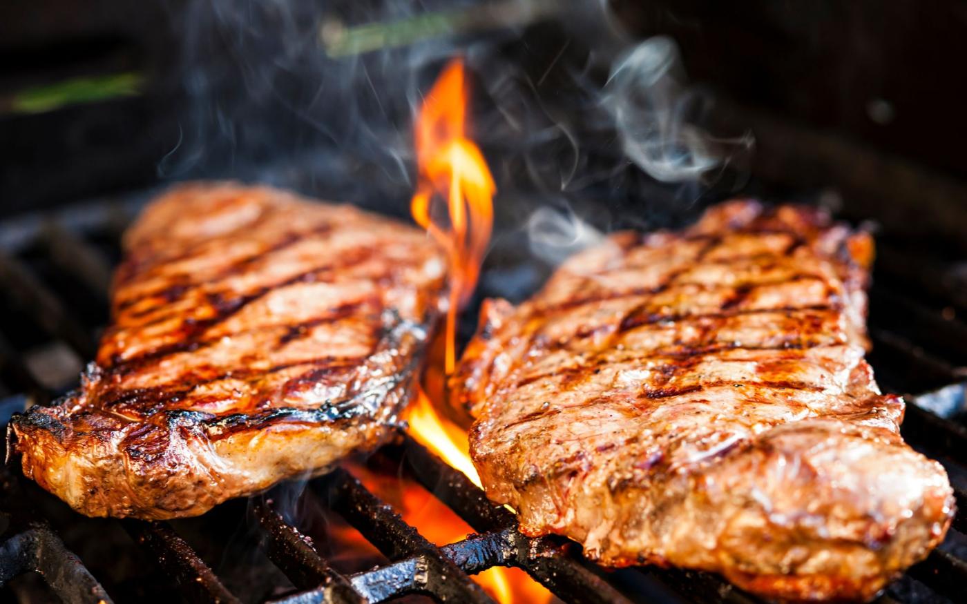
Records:
M124 244L81 388L13 420L25 475L90 516L192 516L389 432L445 285L423 232L213 184Z

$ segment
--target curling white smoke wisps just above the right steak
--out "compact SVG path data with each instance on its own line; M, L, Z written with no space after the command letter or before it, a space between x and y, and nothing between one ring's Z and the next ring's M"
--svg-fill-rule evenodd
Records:
M658 199L648 205L652 216L636 215L626 211L618 220L601 220L630 224L638 228L654 228L650 217L667 218L674 210L688 210L698 199L703 187L716 183L729 164L751 153L753 139L749 132L737 137L721 137L711 134L701 126L710 111L714 110L711 96L700 87L689 84L677 44L670 38L656 36L637 44L625 44L611 62L608 77L603 86L586 77L572 75L591 100L597 100L600 114L588 112L583 131L567 127L561 129L565 139L566 161L559 161L561 190L575 192L589 184L600 182L621 183L615 176L623 165L621 162L606 163L597 172L589 169L590 162L582 141L593 136L599 138L616 136L620 142L622 158L640 168L654 181L676 185L671 194L674 208L662 207ZM561 156L559 156L560 158ZM532 179L539 180L538 170L528 162ZM619 185L620 186L620 185ZM638 194L654 192L636 183ZM633 194L633 193L632 193ZM667 197L667 195L659 196ZM544 204L533 211L526 223L527 239L533 255L556 266L573 253L586 247L601 244L601 231L577 216L572 205Z

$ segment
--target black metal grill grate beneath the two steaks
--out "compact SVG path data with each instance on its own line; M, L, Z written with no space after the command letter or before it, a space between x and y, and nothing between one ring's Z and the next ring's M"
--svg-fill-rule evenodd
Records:
M30 351L53 343L87 360L95 349L94 333L103 320L96 313L75 314L78 307L103 305L110 261L118 257L122 225L144 196L101 202L79 212L23 218L0 225L0 386L9 396L0 401L7 416L29 399L44 403L57 393L49 377L27 361ZM939 459L956 487L959 509L967 510L967 395L959 385L967 364L967 324L955 318L964 308L964 292L937 263L911 270L909 259L886 248L881 254L883 278L871 292L870 332L877 377L886 388L911 391L953 384L912 398L903 425L905 438ZM923 275L929 283L919 284ZM78 289L78 286L81 289ZM923 292L921 300L911 292ZM92 318L93 317L93 318ZM929 409L930 411L927 411ZM936 412L936 413L934 413ZM5 421L6 417L0 417ZM403 460L402 463L398 460ZM513 566L566 602L589 604L642 601L702 601L731 604L759 602L716 576L679 569L647 567L603 575L583 561L578 548L556 537L531 538L517 532L513 513L489 503L464 475L423 446L400 435L372 458L401 471L452 508L477 533L436 547L419 528L402 520L350 471L337 470L308 482L308 493L335 511L388 560L358 573L339 572L320 555L297 527L287 523L271 494L249 500L261 531L265 556L291 582L288 591L268 599L274 603L382 602L406 594L440 601L490 602L468 575L492 566ZM7 519L0 535L0 585L36 572L65 602L111 602L99 579L65 545L45 516L53 498L26 481L9 463L3 499ZM142 552L157 563L162 581L173 580L192 602L241 602L203 557L171 523L135 520L93 521L72 516L70 522L105 522L123 527ZM967 514L958 514L954 531L926 561L910 569L880 602L956 601L967 583ZM109 585L109 584L108 584ZM282 589L285 589L283 586Z

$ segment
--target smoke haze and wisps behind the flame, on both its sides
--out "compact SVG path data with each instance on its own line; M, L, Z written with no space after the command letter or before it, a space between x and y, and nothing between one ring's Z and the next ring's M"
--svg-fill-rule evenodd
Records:
M675 44L632 45L608 6L190 3L175 15L184 40L179 143L159 171L354 200L403 195L412 188L413 114L457 55L476 75L473 133L511 187L579 192L621 175L629 160L676 184L720 169L748 141L700 129L708 97L689 86ZM607 143L615 136L617 154Z

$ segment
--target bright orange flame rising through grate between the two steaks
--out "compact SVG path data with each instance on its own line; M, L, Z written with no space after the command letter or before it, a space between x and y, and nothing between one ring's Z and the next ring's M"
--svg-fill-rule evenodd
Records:
M477 285L493 228L493 194L496 187L484 154L467 137L466 112L467 89L463 63L457 59L440 74L417 115L415 142L419 180L410 206L414 219L446 250L450 264L444 372L440 371L439 365L431 363L425 376L427 383L435 380L438 385L442 384L444 376L454 371L457 313ZM445 223L435 219L431 212L432 202L438 198L447 202ZM437 390L442 391L442 388L433 389ZM440 417L422 389L410 406L407 421L410 434L419 443L481 486L480 476L468 452L466 430ZM450 512L449 509L447 511ZM452 512L451 515L455 516ZM417 526L443 524L441 519L441 513L434 510L428 525ZM457 521L460 526L465 526L459 518ZM440 541L451 543L465 534L450 534ZM477 575L476 579L501 604L537 604L551 599L549 591L516 568L490 568Z

